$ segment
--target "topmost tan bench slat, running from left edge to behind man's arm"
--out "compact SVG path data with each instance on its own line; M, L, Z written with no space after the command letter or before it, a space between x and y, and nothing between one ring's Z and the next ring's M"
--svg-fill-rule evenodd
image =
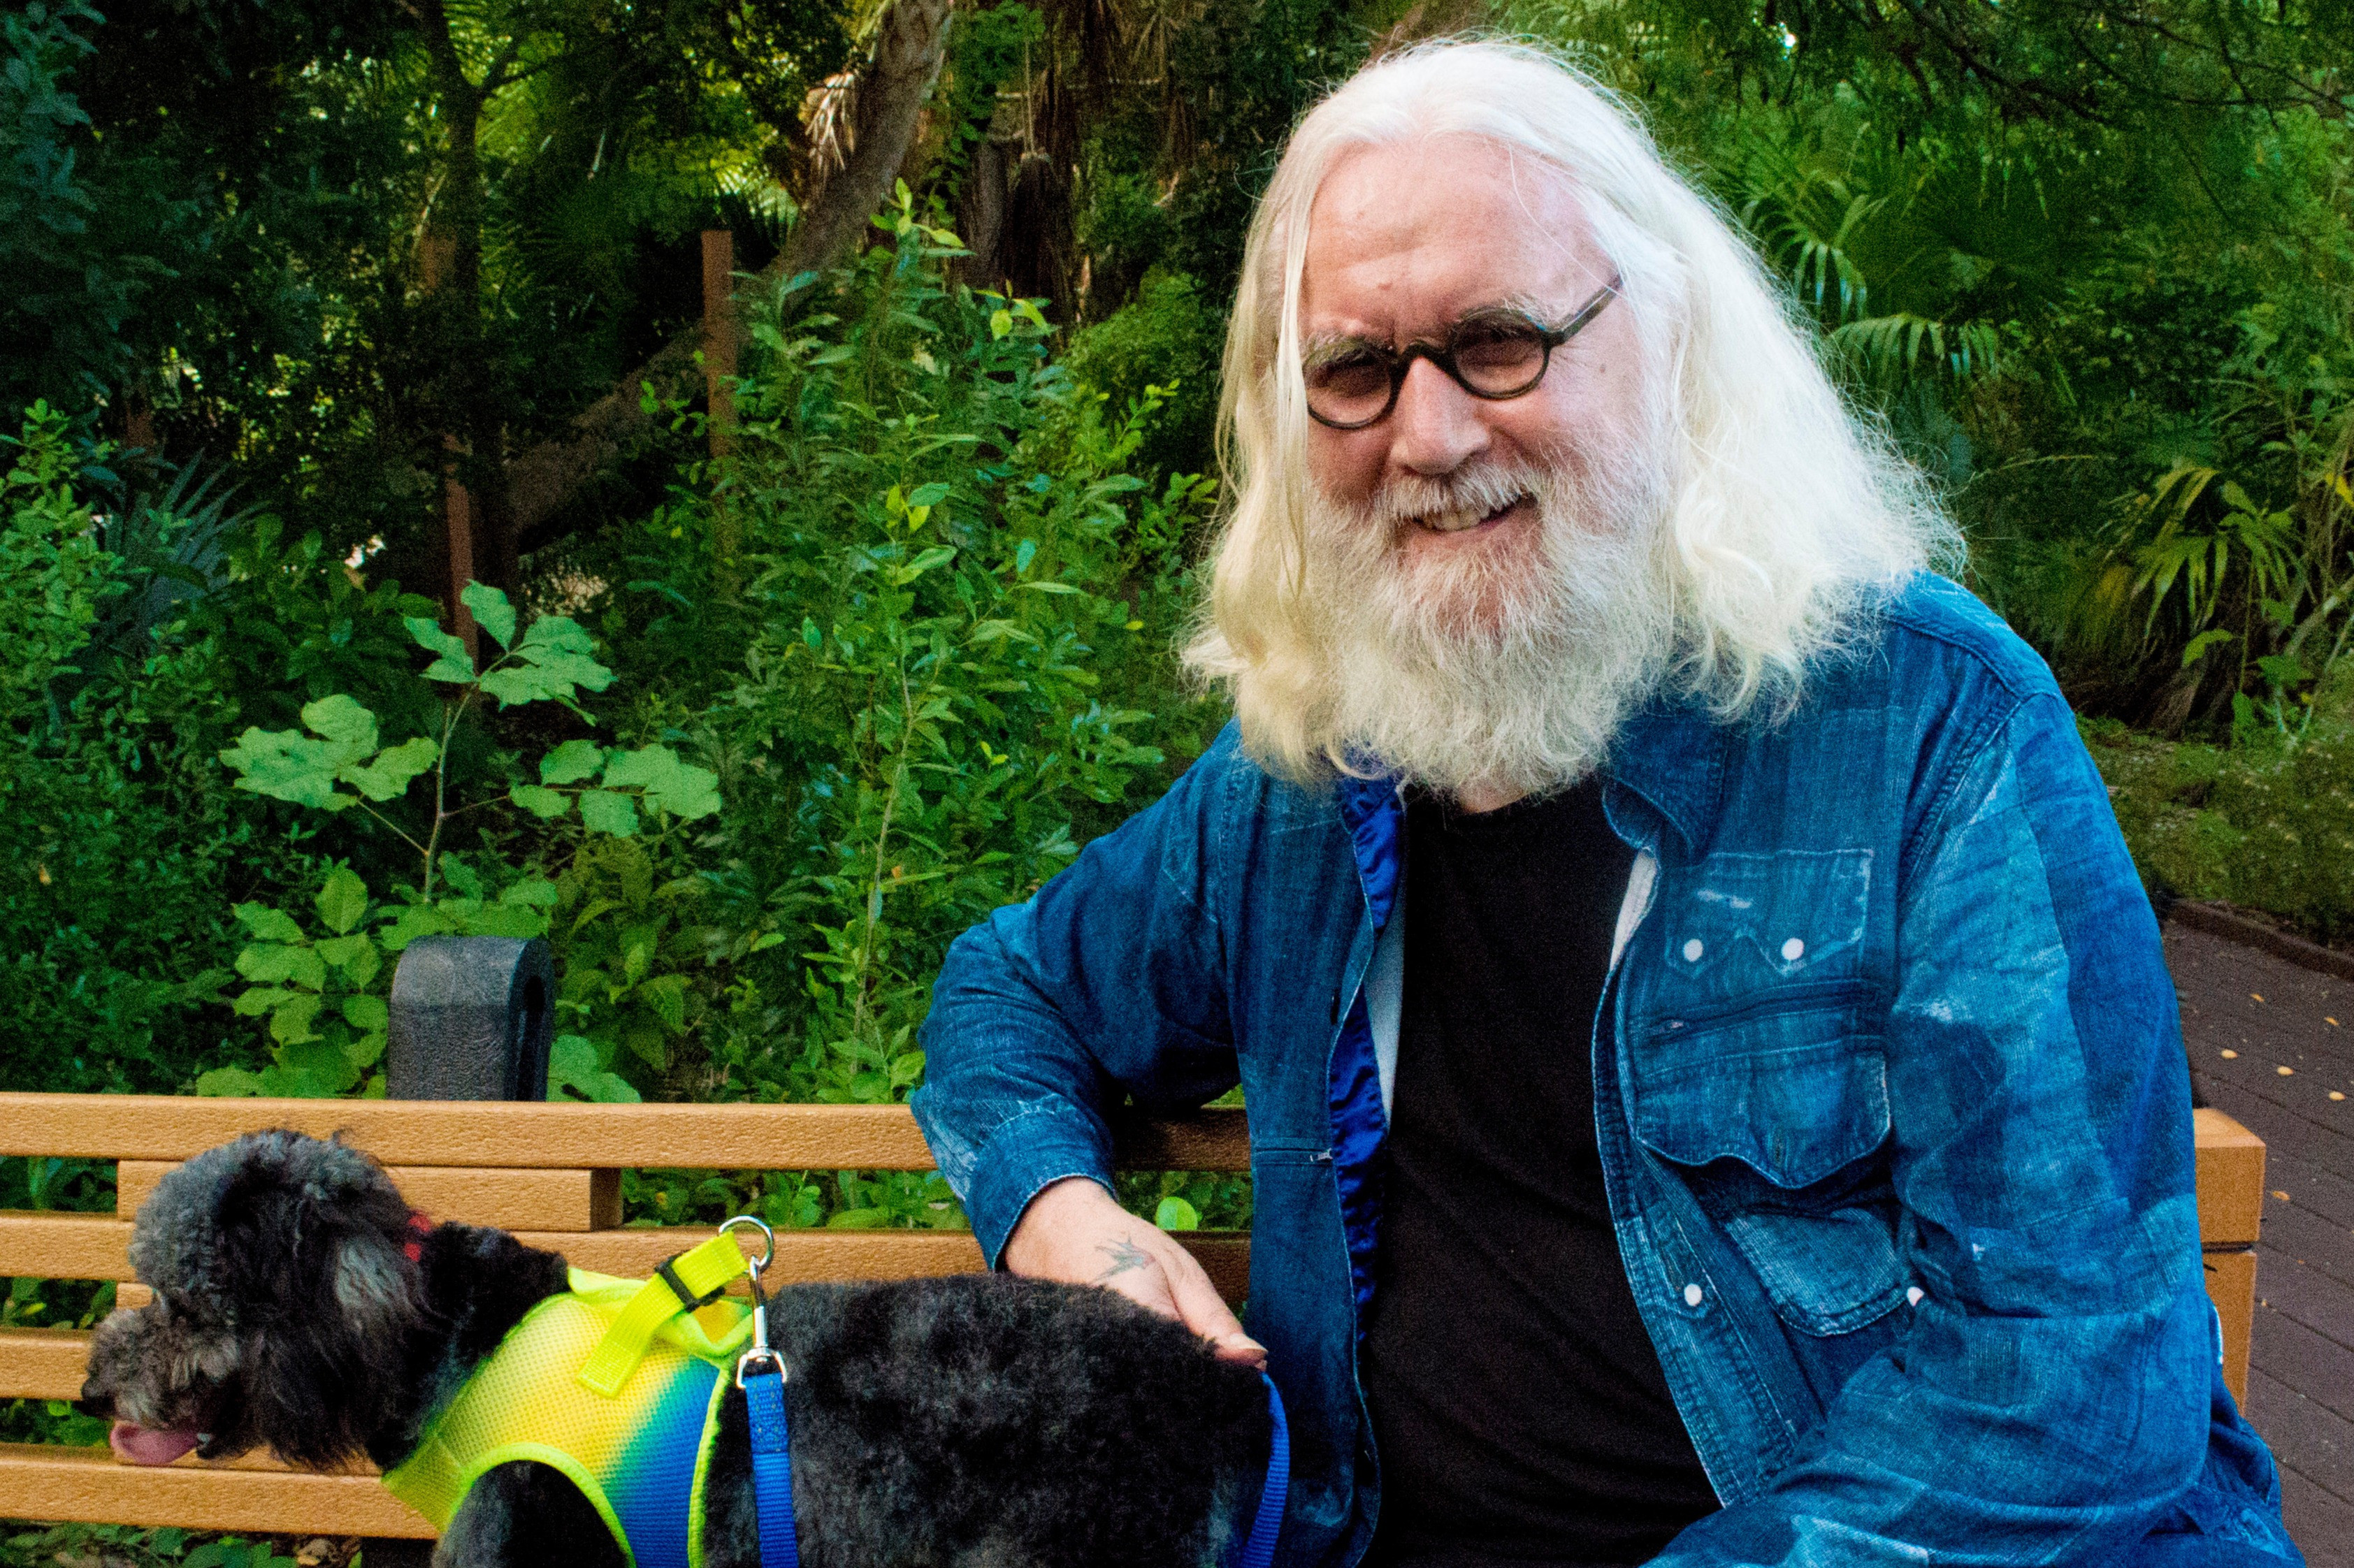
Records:
M259 1128L348 1132L386 1165L932 1170L899 1104L499 1104L0 1095L0 1156L184 1161ZM1123 1125L1128 1170L1248 1170L1241 1109Z

